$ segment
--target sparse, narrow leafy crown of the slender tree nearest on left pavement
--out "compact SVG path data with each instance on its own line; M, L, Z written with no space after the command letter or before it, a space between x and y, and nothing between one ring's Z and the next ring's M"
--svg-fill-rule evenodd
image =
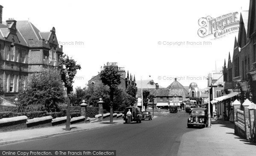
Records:
M60 58L59 68L61 71L61 80L64 82L67 88L67 95L73 91L74 77L76 76L77 70L81 69L80 64L76 64L73 58L69 58L68 55L63 55Z

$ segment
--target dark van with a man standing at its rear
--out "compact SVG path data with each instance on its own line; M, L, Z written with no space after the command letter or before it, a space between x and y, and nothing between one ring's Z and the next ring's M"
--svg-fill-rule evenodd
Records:
M128 110L131 111L131 122L132 121L136 121L137 123L140 122L142 120L142 112L141 112L141 108L139 107L125 107L125 115L123 116L123 119L125 120L125 123L128 123L128 119L126 118L126 114L128 112Z

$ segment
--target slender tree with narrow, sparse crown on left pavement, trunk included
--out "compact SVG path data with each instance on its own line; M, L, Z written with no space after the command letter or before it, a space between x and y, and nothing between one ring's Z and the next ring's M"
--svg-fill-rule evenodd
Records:
M73 91L74 77L77 70L81 69L80 64L76 64L76 61L69 58L67 55L60 57L59 68L61 71L61 80L64 82L64 86L67 88L67 122L66 130L70 130L70 92Z

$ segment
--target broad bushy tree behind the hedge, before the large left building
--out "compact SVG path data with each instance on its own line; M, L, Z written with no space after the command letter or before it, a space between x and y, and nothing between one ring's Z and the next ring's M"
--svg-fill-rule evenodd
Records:
M36 109L55 112L58 102L63 102L64 90L61 76L57 69L44 69L34 73L26 90L18 94L19 111Z

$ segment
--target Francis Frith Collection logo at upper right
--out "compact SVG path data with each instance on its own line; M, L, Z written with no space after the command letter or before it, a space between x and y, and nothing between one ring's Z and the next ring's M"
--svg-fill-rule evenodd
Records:
M238 12L230 12L222 16L212 18L211 16L202 17L198 20L198 36L201 38L214 36L213 39L221 38L227 34L239 31Z

